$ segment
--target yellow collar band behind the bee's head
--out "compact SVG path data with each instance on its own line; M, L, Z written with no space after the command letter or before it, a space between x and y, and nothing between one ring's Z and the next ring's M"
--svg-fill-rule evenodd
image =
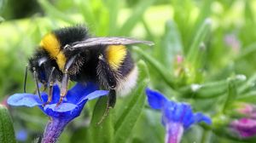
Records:
M49 56L56 60L60 70L64 70L67 58L61 52L61 43L53 33L45 35L40 42L40 46L49 53Z

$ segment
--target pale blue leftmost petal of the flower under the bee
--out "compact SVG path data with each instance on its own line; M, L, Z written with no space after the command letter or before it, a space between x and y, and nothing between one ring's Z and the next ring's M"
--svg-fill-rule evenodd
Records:
M10 106L41 106L42 102L35 94L13 94L7 100Z

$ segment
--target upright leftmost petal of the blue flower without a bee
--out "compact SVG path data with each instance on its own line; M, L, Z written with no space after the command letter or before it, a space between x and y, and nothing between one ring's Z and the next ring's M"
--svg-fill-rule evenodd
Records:
M147 88L146 94L148 95L149 106L151 106L151 108L153 109L160 110L167 101L166 97L157 91Z

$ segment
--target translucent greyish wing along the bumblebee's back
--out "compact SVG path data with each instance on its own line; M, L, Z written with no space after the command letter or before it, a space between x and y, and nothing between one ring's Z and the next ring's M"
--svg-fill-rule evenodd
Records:
M96 45L128 45L135 43L143 43L149 46L154 45L154 43L149 41L137 40L129 37L91 37L84 41L76 42L70 45L71 49L83 49Z

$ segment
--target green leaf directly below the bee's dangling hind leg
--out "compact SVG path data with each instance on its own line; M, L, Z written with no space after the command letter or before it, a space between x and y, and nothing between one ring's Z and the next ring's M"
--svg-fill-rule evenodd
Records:
M101 121L107 107L108 96L103 96L96 102L90 123L90 142L112 143L113 142L113 109L110 109L108 116Z

